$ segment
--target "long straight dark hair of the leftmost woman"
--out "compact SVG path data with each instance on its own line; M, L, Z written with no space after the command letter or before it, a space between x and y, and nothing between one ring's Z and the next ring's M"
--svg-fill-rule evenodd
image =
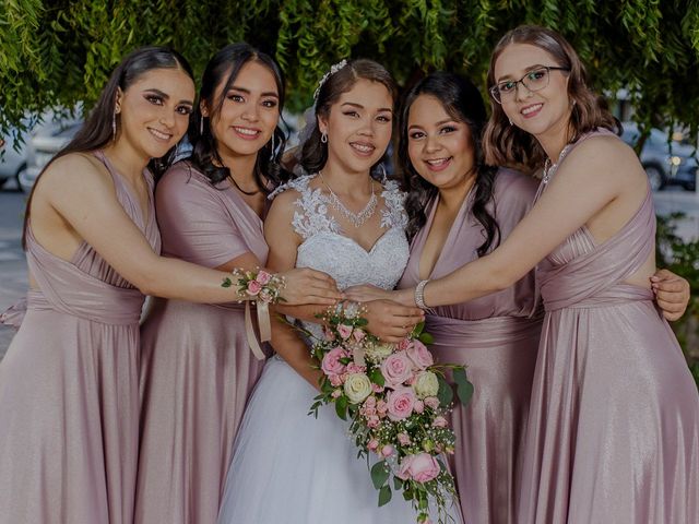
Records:
M143 74L156 69L179 69L185 71L192 81L194 75L189 62L179 52L167 47L141 47L128 55L121 63L115 68L102 90L99 98L95 107L90 112L90 117L85 120L78 134L59 151L54 158L42 169L42 172L34 182L34 188L29 193L26 203L26 212L24 214L24 230L22 235L22 246L26 249L26 226L29 221L29 210L34 191L38 184L39 178L46 172L46 169L57 159L71 153L88 153L97 151L108 145L114 139L111 129L112 119L116 118L117 136L121 129L121 115L115 117L115 104L118 90L127 91ZM162 158L152 158L149 168L155 175L164 172L169 167L176 155L177 146L171 147Z

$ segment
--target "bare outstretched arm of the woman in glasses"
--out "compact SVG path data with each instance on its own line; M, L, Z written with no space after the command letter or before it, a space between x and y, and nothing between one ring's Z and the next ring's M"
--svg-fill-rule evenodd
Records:
M613 138L592 138L578 146L502 245L446 277L431 281L425 287L425 303L459 303L511 286L603 211L608 215L601 222L624 224L647 191L642 170L631 155ZM617 213L619 209L621 212ZM611 221L608 216L618 219ZM413 303L413 293L396 291L396 298Z

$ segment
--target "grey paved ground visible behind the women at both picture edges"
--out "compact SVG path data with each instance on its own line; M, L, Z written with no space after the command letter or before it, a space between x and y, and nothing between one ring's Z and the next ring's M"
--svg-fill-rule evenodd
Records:
M0 191L0 312L12 306L26 290L26 262L20 243L26 195ZM673 188L654 194L660 214L682 211L687 214L678 228L686 239L699 238L699 193ZM14 334L0 326L0 359Z

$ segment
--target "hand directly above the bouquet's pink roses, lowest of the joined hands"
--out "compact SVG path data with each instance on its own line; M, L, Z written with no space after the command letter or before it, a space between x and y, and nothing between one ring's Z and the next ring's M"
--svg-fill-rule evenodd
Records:
M398 343L413 332L415 324L425 320L422 309L402 306L392 300L370 300L362 303L367 331L384 342Z

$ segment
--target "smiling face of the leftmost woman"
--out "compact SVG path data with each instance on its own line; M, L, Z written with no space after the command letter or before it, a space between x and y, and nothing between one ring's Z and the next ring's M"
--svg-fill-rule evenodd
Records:
M147 71L118 92L118 140L144 157L159 158L185 135L193 104L194 82L182 70Z

